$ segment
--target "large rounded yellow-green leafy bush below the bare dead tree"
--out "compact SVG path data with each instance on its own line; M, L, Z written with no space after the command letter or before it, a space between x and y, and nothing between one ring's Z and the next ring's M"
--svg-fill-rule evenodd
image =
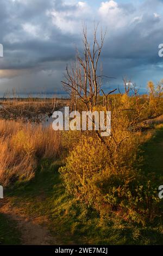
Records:
M151 182L132 167L135 159L112 164L103 143L83 137L59 171L67 192L96 209L101 218L118 215L145 223L153 220L159 200Z

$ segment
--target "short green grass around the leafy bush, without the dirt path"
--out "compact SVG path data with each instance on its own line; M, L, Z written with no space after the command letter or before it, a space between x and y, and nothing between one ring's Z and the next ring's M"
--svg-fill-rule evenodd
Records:
M161 185L163 129L158 129L142 149L145 151L143 171ZM7 192L10 203L32 218L48 217L48 228L61 244L163 245L163 223L160 220L145 227L119 219L105 223L97 212L69 197L58 173L60 165L60 162L48 160L41 162L32 181L15 184ZM4 229L0 231L2 236L7 234L12 223L1 216L0 223L0 227L4 223ZM10 244L8 234L5 237L5 243ZM15 239L15 244L17 242Z

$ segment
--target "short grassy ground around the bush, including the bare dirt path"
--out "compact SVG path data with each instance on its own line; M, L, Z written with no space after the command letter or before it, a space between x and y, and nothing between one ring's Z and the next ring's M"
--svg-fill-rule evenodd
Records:
M143 170L161 185L163 127L156 130L142 149L145 151ZM5 193L7 199L0 206L0 228L1 214L9 220L4 230L11 227L11 222L17 223L17 233L13 233L15 229L12 232L15 237L10 235L9 240L7 237L5 244L163 244L163 225L160 223L144 228L118 223L101 227L95 212L87 212L85 206L74 206L73 199L66 196L58 174L59 166L59 162L43 161L32 181L16 184Z

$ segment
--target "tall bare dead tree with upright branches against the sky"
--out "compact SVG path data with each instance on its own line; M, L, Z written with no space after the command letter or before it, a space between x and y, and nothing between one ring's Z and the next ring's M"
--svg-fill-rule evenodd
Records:
M86 109L91 111L93 106L98 105L98 96L101 92L102 75L99 75L99 58L106 32L97 40L97 26L94 26L92 45L87 39L87 29L83 26L83 54L77 50L76 66L71 69L66 68L65 81L61 81L64 88L70 92L73 104L76 105L77 99L84 102Z

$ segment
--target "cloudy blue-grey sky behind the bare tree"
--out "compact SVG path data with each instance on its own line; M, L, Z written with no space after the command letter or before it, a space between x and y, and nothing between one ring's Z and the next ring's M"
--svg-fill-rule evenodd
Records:
M0 92L60 92L62 74L82 47L82 22L89 37L93 22L107 27L101 62L103 73L116 79L127 76L143 89L163 78L162 0L1 0Z

